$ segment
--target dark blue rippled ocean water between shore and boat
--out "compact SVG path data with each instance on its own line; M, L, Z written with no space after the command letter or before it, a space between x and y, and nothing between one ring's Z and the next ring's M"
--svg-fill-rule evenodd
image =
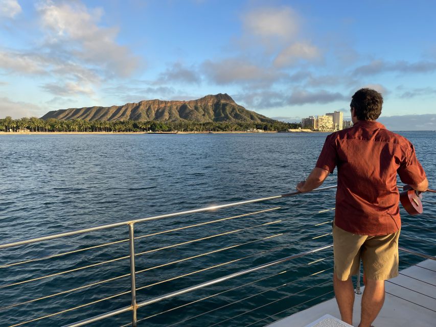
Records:
M436 188L436 133L399 133L414 143ZM326 136L3 136L0 243L292 192L310 173ZM335 183L333 174L323 186ZM136 275L137 301L331 244L334 194L135 224L135 236L144 236L135 240L136 253L145 252L135 258L136 271L142 271ZM400 245L434 255L436 194L424 194L423 204L421 216L402 211ZM168 231L235 216L240 217ZM60 326L128 306L130 278L120 276L129 273L129 260L119 259L128 255L128 242L99 247L127 237L122 226L0 250L0 326ZM94 248L62 254L87 247ZM139 325L266 325L333 297L332 254L319 251L143 307L138 318L147 319ZM32 261L46 256L52 258ZM109 260L114 261L99 264ZM421 261L404 253L400 260L401 268ZM80 269L85 266L90 267ZM47 275L52 276L40 278ZM100 283L111 278L117 279ZM37 319L43 316L49 317ZM126 313L90 325L121 326L129 319Z

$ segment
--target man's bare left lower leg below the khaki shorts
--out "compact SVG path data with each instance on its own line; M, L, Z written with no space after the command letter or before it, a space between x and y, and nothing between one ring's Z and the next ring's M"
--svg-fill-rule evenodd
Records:
M337 306L339 307L340 319L353 324L354 288L351 276L347 281L341 281L336 273L333 273L333 288Z

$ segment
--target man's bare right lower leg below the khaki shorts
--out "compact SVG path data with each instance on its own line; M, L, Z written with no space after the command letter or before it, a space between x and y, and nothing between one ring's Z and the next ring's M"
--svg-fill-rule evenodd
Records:
M370 327L383 307L384 281L366 278L359 327Z

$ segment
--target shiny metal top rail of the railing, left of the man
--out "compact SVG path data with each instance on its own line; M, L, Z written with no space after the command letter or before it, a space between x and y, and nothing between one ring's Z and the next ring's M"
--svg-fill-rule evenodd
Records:
M337 187L337 185L331 185L331 186L326 186L324 188L315 189L311 192L325 191L325 190L329 190L329 189L334 189L336 187ZM307 192L307 193L310 193L310 192ZM163 214L163 215L157 215L157 216L146 217L146 218L131 219L131 220L125 220L125 221L120 221L120 222L111 223L111 224L104 224L104 225L98 225L98 226L93 226L93 227L88 227L88 228L65 231L65 232L55 233L55 234L31 238L31 239L3 243L3 244L0 244L0 249L18 246L18 245L30 244L30 243L35 243L35 242L48 241L48 240L53 240L53 239L57 239L57 238L61 238L61 237L82 234L82 233L86 233L86 232L90 232L90 231L96 231L96 230L107 229L107 228L114 228L114 227L119 227L119 226L123 226L123 225L139 223L139 222L145 222L145 221L150 221L150 220L200 213L200 212L204 212L204 211L212 211L212 210L216 210L216 209L237 206L237 205L242 205L242 204L248 204L248 203L262 202L262 201L267 201L267 200L272 200L272 199L286 198L286 197L291 197L291 196L295 196L295 195L299 195L299 194L302 194L302 193L299 191L295 191L295 192L285 193L285 194L281 194L281 195L273 195L273 196L258 198L258 199L253 199L253 200L238 201L238 202L225 203L225 204L220 204L220 205L211 205L208 207L180 211L180 212L175 212L175 213L170 213L170 214Z

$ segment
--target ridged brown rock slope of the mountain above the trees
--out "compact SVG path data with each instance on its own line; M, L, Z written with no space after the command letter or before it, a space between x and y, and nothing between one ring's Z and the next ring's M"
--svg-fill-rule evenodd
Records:
M61 109L50 111L41 117L41 119L48 118L87 121L274 122L270 118L245 109L230 96L221 93L191 101L146 100L123 106Z

